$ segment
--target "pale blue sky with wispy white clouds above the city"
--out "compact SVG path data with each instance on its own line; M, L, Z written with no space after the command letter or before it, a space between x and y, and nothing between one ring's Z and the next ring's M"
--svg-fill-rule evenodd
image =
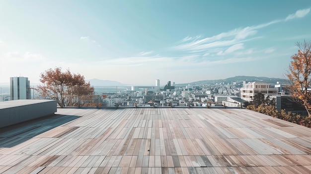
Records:
M0 83L62 67L161 85L284 77L311 40L310 0L1 0Z

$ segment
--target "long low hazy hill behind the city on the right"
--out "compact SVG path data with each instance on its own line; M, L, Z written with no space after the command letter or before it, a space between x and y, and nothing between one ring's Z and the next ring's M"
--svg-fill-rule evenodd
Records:
M248 82L254 82L254 81L261 81L265 83L272 83L275 84L277 82L279 83L285 83L285 79L282 78L269 78L269 77L255 77L255 76L235 76L235 77L230 77L226 79L218 79L218 80L201 80L201 81L196 81L196 82L191 82L191 83L185 83L185 84L178 84L178 85L199 85L199 84L216 84L216 83L233 83L233 82L242 82L246 81Z

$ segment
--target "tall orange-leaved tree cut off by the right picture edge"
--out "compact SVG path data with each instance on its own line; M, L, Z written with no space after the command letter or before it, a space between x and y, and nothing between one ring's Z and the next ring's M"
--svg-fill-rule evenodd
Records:
M311 117L311 41L297 42L298 53L292 56L289 66L288 88L291 96L302 104Z

